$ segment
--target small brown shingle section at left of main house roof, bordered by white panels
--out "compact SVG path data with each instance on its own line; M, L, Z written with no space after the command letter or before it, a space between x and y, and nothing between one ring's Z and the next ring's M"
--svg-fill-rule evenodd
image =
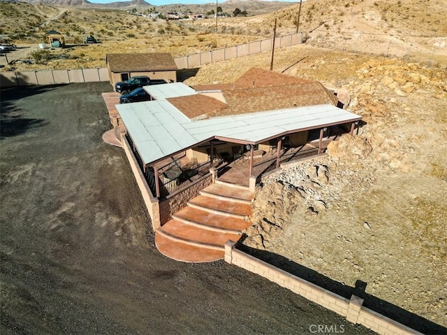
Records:
M227 104L203 94L168 98L166 100L190 119L199 116L207 117L210 113L219 115L228 108Z

